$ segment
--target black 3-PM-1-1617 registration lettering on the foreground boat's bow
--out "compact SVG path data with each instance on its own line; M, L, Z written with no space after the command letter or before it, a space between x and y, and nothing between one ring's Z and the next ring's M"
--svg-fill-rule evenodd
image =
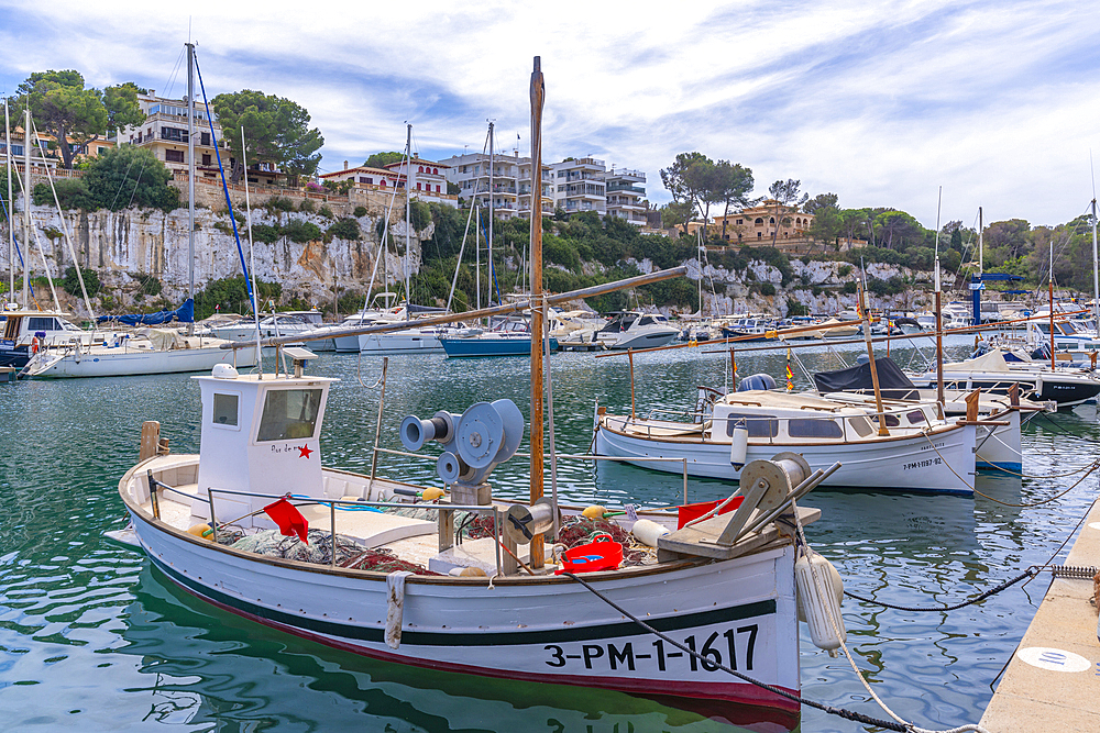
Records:
M712 632L708 636L692 634L683 640L683 644L700 655L686 654L675 646L666 644L658 638L651 644L635 642L607 642L606 644L547 644L543 648L550 654L547 665L556 669L584 665L585 669L601 671L628 670L637 671L639 667L657 666L658 671L668 671L669 666L688 664L692 671L700 667L706 671L717 671L718 665L725 664L730 669L752 669L752 657L756 652L759 624L748 624L726 629L724 632ZM684 662L686 657L686 662Z

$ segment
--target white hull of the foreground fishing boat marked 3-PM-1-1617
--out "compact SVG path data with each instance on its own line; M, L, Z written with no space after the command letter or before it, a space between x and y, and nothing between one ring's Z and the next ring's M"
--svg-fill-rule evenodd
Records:
M790 701L693 664L564 578L498 579L492 589L484 580L410 578L402 643L393 649L384 641L384 575L257 560L167 532L128 509L142 547L174 582L233 613L330 646L433 669L680 698L681 707L708 712L750 704L796 715ZM614 579L591 574L590 580L678 642L716 652L723 664L733 649L739 670L796 693L794 548L718 565Z

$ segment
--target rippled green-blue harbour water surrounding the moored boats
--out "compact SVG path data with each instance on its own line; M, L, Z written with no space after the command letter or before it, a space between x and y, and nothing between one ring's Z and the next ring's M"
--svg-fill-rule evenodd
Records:
M965 351L959 346L958 351ZM821 349L811 370L831 368ZM854 352L848 352L850 358ZM912 352L894 353L903 366ZM382 360L322 355L310 371L340 377L321 445L330 466L370 468ZM585 453L595 403L630 406L627 360L552 357L558 448ZM738 356L740 375L781 375L782 355ZM382 443L399 447L409 413L461 412L508 397L529 410L526 359L389 363ZM721 386L728 360L697 349L636 357L639 411L684 409L696 385ZM796 384L806 379L795 367ZM627 731L733 730L627 696L484 680L376 663L240 620L178 591L141 555L102 540L124 524L117 484L136 459L143 420L160 420L174 452L198 449L198 389L186 376L0 385L0 721L12 731ZM1063 411L1025 429L1024 471L1050 475L1091 460L1097 412ZM414 465L409 465L409 464ZM524 462L493 476L498 496L524 496ZM380 473L430 479L433 465L386 459ZM982 492L1025 503L1069 487L1050 480L979 479ZM676 503L679 476L562 462L563 496L604 503ZM909 604L949 602L1045 562L1096 493L1090 477L1040 509L982 497L811 495L823 520L811 543L847 588ZM692 480L691 500L728 487ZM880 697L924 728L977 722L1046 589L1041 578L981 606L906 614L845 602L850 648ZM845 659L803 629L803 693L880 715ZM172 726L166 728L166 726ZM862 726L813 710L803 731Z

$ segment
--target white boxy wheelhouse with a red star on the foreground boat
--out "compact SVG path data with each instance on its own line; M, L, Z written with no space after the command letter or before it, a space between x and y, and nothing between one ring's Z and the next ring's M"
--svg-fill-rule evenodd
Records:
M260 511L279 496L323 497L319 437L336 379L241 375L228 364L193 378L202 395L194 515L209 520L211 501L216 519L226 522ZM262 511L237 523L274 526Z

